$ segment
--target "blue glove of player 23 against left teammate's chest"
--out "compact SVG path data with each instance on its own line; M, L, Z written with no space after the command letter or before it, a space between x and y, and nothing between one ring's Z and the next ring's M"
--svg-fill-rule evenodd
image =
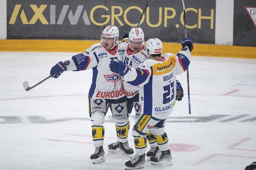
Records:
M129 71L129 67L127 64L124 64L124 62L115 59L110 61L110 71L124 76Z

